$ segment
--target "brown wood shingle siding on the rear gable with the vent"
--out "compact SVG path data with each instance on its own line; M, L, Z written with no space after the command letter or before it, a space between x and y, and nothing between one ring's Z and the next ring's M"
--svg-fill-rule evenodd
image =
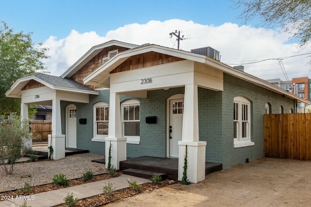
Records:
M108 57L108 52L111 50L118 49L118 52L128 50L129 48L123 48L120 46L111 46L104 48L100 53L98 53L94 58L92 58L87 64L85 64L79 71L71 76L72 80L75 80L83 84L83 79L100 67L103 64L103 58ZM87 85L90 88L96 88L95 86Z

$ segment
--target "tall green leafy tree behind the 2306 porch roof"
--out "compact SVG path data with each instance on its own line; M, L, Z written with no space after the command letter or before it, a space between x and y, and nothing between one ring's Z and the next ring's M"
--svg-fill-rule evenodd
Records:
M24 76L36 71L46 71L42 59L49 58L45 55L47 48L34 48L31 39L32 32L15 33L3 21L0 22L0 112L19 112L20 99L7 98L5 92L13 83Z

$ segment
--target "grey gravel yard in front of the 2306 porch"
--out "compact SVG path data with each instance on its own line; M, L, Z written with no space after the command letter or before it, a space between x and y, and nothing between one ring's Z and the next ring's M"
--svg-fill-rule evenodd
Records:
M55 174L64 174L67 178L74 179L82 177L88 170L95 175L105 173L107 171L104 164L91 162L92 159L101 158L104 155L86 153L59 160L17 163L13 167L12 175L6 175L0 168L0 192L20 189L25 182L32 186L52 183Z

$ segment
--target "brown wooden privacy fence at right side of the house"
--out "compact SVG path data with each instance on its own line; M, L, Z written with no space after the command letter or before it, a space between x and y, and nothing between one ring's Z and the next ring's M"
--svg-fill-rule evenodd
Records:
M265 114L264 149L270 158L311 160L311 113Z

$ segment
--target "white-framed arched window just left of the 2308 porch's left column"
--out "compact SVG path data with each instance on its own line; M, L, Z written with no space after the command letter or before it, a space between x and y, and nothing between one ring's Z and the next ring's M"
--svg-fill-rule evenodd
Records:
M108 136L109 104L98 102L93 106L93 139L94 142L104 142Z

